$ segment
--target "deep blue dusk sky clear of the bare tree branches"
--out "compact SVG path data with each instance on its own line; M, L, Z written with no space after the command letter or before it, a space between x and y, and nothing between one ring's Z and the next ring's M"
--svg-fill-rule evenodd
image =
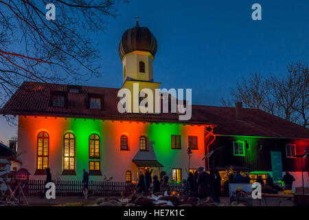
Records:
M262 5L262 21L251 19L253 3ZM118 10L121 16L108 19L106 32L93 36L103 74L83 85L122 86L118 44L136 16L158 41L155 81L161 88L192 88L193 104L220 105L229 88L252 72L280 75L292 61L308 63L307 0L130 0ZM3 118L0 123L0 141L6 142L16 129Z

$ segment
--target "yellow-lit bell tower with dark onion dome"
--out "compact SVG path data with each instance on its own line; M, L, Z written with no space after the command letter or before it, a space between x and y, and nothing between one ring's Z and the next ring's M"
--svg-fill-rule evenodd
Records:
M122 59L122 80L124 82L122 88L130 90L132 103L135 106L140 104L137 100L142 98L139 96L142 89L148 89L148 91L150 89L155 96L155 89L159 89L161 85L161 83L155 83L153 78L153 61L157 52L157 39L148 28L140 27L138 17L136 19L135 27L126 30L122 35L118 50ZM138 85L138 91L134 89L136 85ZM147 100L150 100L148 94L145 95ZM155 100L155 97L153 97L153 100ZM155 104L153 106L155 107ZM140 109L141 106L139 106ZM137 111L131 112L136 113Z

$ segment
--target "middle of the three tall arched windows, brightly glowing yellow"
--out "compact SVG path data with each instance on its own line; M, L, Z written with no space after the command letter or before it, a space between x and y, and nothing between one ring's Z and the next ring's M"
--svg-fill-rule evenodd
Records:
M75 136L73 133L65 134L65 148L63 153L63 170L75 170Z

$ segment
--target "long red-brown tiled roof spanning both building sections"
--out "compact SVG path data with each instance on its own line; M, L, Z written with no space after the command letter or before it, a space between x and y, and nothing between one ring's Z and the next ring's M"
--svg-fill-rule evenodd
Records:
M259 109L243 109L244 121L238 121L233 107L192 105L192 118L179 121L176 113L142 114L119 113L117 91L106 87L80 87L80 93L67 94L67 107L52 107L52 91L67 93L71 85L25 82L8 100L0 113L6 115L46 115L66 118L98 118L103 120L137 120L144 122L181 122L216 124L215 134L249 135L260 137L309 138L309 129L288 122ZM87 108L88 94L104 97L102 110Z

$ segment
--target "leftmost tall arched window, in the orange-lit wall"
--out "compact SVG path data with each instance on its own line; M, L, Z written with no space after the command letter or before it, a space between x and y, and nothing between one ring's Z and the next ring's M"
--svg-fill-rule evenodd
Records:
M45 131L38 133L38 152L36 169L43 170L48 167L49 136Z

